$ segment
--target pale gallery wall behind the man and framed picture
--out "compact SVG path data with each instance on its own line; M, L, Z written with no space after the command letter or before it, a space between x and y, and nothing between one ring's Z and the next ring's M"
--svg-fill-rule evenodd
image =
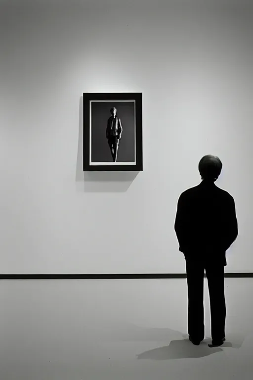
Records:
M253 11L243 1L0 0L0 273L185 273L198 162L236 203L253 272ZM140 173L83 173L84 92L143 93Z

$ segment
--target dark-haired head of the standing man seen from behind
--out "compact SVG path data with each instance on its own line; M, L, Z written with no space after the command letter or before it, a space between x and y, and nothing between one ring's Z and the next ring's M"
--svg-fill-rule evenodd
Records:
M207 154L199 162L199 172L203 180L215 182L220 175L222 162L219 157Z

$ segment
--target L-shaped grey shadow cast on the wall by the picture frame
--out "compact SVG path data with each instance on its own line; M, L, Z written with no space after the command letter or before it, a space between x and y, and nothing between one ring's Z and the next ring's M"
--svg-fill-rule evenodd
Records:
M76 189L78 192L124 192L129 189L138 171L84 172L84 105L79 100L79 137L76 166Z

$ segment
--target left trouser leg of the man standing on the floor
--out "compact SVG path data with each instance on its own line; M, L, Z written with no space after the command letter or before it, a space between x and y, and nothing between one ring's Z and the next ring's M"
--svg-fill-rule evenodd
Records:
M205 337L204 264L186 259L188 290L188 334L197 341Z

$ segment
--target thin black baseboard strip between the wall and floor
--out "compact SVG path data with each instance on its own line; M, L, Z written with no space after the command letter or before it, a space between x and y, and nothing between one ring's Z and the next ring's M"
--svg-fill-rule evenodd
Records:
M204 274L206 278L206 274ZM186 279L185 273L143 274L8 274L0 280L139 280L139 279ZM253 278L253 273L225 273L225 278Z

